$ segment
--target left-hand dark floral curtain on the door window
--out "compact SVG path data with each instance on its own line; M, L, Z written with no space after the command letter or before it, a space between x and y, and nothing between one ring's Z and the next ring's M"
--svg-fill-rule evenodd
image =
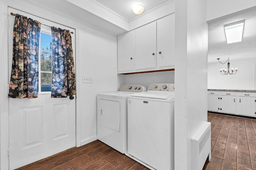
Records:
M38 97L38 44L41 23L15 14L9 98Z

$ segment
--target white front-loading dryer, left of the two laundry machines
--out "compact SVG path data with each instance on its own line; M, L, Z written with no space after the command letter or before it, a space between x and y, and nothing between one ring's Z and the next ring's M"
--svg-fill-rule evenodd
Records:
M121 153L127 151L127 98L146 91L140 85L122 85L117 92L97 95L97 138Z

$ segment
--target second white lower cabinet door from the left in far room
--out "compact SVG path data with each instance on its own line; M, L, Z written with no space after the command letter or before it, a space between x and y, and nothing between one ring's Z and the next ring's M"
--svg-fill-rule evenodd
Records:
M221 96L221 111L224 113L236 114L236 97L235 96Z

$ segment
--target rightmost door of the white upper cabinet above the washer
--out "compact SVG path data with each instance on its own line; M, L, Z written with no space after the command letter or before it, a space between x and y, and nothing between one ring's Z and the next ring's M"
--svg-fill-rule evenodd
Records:
M175 14L157 21L157 66L174 65Z

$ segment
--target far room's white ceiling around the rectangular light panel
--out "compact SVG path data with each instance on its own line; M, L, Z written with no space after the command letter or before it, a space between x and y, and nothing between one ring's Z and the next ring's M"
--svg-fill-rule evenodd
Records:
M227 44L225 24L245 20L242 42ZM243 60L256 57L256 9L240 11L208 23L208 63L224 62L227 59Z

